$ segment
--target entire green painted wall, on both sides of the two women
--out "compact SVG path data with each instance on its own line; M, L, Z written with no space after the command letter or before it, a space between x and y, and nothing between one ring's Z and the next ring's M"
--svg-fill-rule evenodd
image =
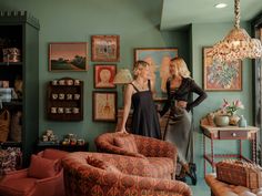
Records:
M149 6L150 4L150 6ZM120 35L120 62L118 68L132 68L134 48L179 48L192 68L192 76L202 85L202 48L212 45L221 40L232 28L232 23L192 24L183 31L160 31L160 13L162 0L1 0L2 10L27 10L40 20L40 120L39 135L47 128L52 128L62 138L62 135L75 133L84 137L94 149L93 138L99 134L113 131L114 123L92 122L92 91L93 62L89 61L88 72L48 71L49 42L83 42L89 43L93 34ZM243 24L246 27L246 23ZM191 52L192 51L192 52ZM90 56L90 50L89 50ZM53 79L71 76L84 81L84 120L82 122L51 122L46 120L46 87L47 82ZM198 173L203 175L203 142L199 130L199 121L208 112L218 109L222 99L240 99L245 105L242 111L249 123L252 122L252 85L251 62L243 62L243 91L241 92L208 92L208 100L194 110L194 148ZM119 91L119 106L122 104L121 89ZM112 91L112 90L110 90ZM33 110L33 109L32 109ZM32 131L34 132L34 131ZM231 143L215 145L219 151L231 147Z

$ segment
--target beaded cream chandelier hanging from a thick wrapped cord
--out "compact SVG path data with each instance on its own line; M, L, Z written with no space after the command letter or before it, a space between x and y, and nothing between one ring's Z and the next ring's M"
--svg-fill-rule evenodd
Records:
M261 41L259 39L251 39L248 32L240 28L240 0L234 0L234 29L222 41L213 45L211 55L220 62L232 62L245 58L261 58Z

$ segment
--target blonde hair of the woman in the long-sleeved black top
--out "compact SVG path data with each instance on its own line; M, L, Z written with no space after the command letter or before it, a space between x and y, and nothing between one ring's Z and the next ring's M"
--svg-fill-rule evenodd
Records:
M182 78L190 78L190 71L188 69L187 63L182 58L173 58L170 60L170 65L174 65L175 75L180 75Z

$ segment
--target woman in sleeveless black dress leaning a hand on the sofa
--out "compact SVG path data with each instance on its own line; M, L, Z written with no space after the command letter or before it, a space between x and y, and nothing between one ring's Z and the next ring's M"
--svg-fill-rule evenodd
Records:
M149 64L138 61L134 64L134 80L128 84L124 93L123 120L120 132L127 133L125 123L133 105L132 133L161 138L158 113L154 106Z

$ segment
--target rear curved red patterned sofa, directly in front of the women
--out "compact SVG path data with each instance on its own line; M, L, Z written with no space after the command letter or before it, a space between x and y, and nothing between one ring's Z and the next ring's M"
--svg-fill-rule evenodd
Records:
M134 134L104 133L95 138L97 149L102 153L140 157L152 168L152 177L174 177L177 147L168 142Z

